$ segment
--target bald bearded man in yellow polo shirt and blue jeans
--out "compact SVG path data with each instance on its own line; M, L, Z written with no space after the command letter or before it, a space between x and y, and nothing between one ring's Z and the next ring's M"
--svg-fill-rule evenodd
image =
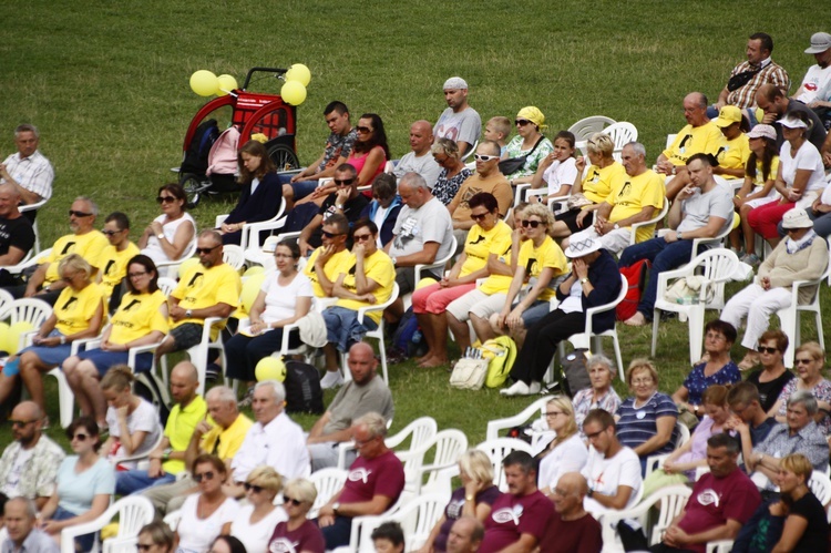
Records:
M175 404L164 427L164 438L150 453L150 469L119 472L115 493L129 495L152 485L167 484L185 470L185 453L196 424L207 416L207 403L196 393L199 378L191 361L171 371L171 397Z

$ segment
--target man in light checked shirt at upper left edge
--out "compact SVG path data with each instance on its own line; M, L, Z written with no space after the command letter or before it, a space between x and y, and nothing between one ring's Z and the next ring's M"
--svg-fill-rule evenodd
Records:
M54 170L49 160L38 152L39 144L40 133L34 125L18 125L14 129L18 152L0 164L0 183L14 186L23 204L37 204L52 197Z

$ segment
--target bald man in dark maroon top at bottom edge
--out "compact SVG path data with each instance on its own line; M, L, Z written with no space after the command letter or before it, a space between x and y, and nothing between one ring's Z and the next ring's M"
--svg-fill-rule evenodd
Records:
M583 509L588 484L579 472L566 472L552 492L554 515L540 546L543 551L599 553L601 524Z

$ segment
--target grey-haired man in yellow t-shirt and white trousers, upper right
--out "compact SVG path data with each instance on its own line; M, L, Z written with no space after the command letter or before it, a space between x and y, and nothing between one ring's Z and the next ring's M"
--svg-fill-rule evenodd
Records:
M620 154L626 177L615 180L612 191L601 204L584 209L597 211L594 226L563 240L563 248L570 242L596 238L604 248L617 255L629 245L632 225L649 221L660 213L666 202L666 187L660 175L646 166L646 149L639 142L629 142ZM655 234L655 225L637 229L635 242L646 242Z

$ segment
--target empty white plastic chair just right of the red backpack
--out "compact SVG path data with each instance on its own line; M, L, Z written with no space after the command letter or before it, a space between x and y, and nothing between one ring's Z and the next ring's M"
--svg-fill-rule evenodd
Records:
M704 345L704 315L705 309L721 309L725 307L725 283L727 283L739 266L739 258L727 248L711 248L696 256L687 265L665 270L658 274L658 291L653 309L653 340L652 357L658 346L658 325L660 324L660 311L677 313L687 319L689 326L689 362L695 365L701 358ZM670 280L699 275L702 278L696 304L677 304L664 298L669 288ZM712 299L707 300L708 293L712 293ZM819 320L817 321L819 324Z

